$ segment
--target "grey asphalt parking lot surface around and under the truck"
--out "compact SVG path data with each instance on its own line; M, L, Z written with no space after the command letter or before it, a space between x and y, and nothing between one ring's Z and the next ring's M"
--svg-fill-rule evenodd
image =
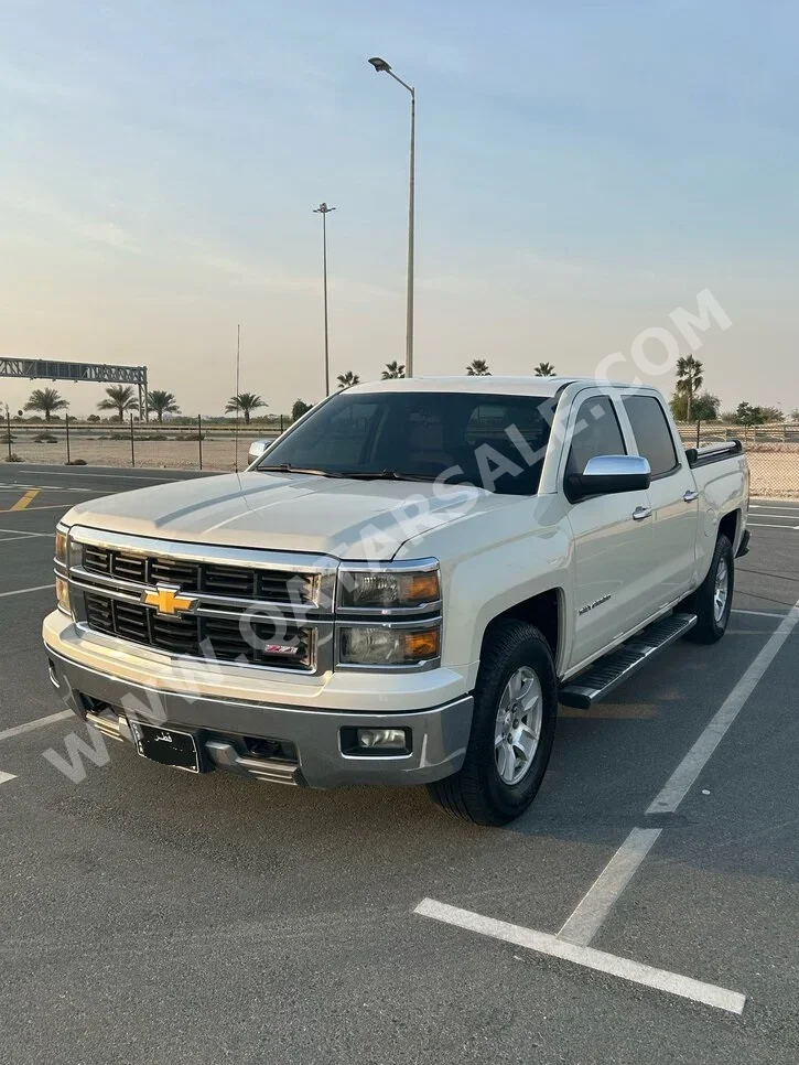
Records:
M42 721L63 710L40 642L55 524L153 478L172 475L0 474L4 1059L795 1065L799 502L753 501L726 637L562 709L537 802L489 830L417 789L191 777L121 746L75 784L43 757L76 731ZM684 797L658 806L681 770ZM575 914L584 957L536 946Z

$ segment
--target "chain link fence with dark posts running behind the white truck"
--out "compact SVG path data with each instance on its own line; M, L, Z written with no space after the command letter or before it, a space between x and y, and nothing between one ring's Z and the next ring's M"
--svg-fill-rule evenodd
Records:
M253 440L274 439L289 424L288 418L269 427L240 423L238 429L202 418L188 426L132 419L87 423L69 418L22 424L7 418L0 444L7 462L233 471L247 465ZM799 424L697 422L678 428L687 448L741 440L752 472L753 496L799 498Z

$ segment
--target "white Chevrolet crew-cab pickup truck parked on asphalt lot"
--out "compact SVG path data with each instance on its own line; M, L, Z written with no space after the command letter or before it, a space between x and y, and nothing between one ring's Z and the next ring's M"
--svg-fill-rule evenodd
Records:
M687 451L651 388L360 385L251 460L64 517L53 685L168 765L479 824L532 802L559 702L724 634L748 544L741 444Z

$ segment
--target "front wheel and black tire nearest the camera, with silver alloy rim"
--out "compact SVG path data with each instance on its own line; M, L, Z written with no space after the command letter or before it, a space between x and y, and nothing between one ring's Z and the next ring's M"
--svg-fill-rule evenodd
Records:
M500 700L507 703L501 723ZM476 825L512 821L525 813L541 786L557 719L558 678L549 644L527 622L496 623L483 646L463 767L429 784L431 798L453 817ZM537 725L533 746L530 732L535 733ZM503 740L497 743L499 735ZM526 746L528 757L523 759ZM517 773L521 776L514 781Z

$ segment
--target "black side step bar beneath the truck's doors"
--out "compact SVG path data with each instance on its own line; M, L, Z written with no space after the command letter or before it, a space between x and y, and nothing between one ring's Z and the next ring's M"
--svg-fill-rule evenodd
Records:
M569 680L560 690L564 707L590 710L658 652L684 636L697 624L695 614L672 614L648 625L626 644L589 666L585 673Z

